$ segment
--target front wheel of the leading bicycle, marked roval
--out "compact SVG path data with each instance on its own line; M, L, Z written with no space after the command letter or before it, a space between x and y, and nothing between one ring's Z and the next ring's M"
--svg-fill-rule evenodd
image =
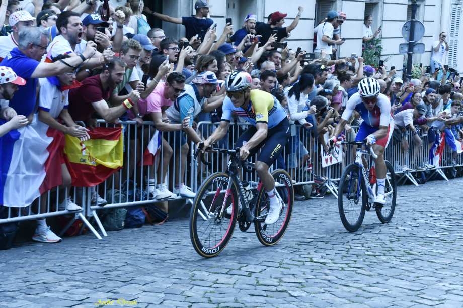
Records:
M205 258L218 255L228 244L238 218L238 190L235 183L226 191L230 175L217 172L207 177L196 193L190 214L190 239ZM222 211L223 206L223 211ZM226 214L230 207L231 214Z

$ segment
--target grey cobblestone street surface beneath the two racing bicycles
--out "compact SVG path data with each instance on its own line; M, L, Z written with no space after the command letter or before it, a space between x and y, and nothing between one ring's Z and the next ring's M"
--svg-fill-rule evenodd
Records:
M462 185L400 187L393 220L367 212L356 233L334 197L296 202L279 244L237 227L212 259L193 250L187 219L23 243L0 252L0 306L461 307Z

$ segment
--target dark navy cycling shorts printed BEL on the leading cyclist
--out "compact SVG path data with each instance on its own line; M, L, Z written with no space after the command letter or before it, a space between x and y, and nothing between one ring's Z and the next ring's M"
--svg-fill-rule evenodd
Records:
M244 146L246 142L248 142L254 134L256 134L256 132L257 128L254 125L250 125L248 129L238 138L235 148L241 148ZM276 126L268 129L267 137L257 146L249 150L249 156L254 156L259 150L261 150L257 160L266 163L267 166L271 166L283 153L290 135L291 132L289 130L288 118L284 118Z

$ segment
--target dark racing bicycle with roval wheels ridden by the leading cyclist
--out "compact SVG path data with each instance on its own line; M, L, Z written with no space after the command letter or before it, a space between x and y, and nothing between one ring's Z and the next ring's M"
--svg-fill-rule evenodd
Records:
M203 150L201 142L196 150L194 160ZM240 230L246 232L252 223L259 241L265 246L278 243L286 230L293 211L294 190L289 174L282 169L276 169L271 174L275 179L277 197L282 200L278 190L287 196L287 202L280 210L278 220L271 225L264 223L270 207L270 201L262 181L259 181L257 193L250 202L246 197L238 170L243 166L252 172L254 163L241 161L240 148L235 150L208 147L204 151L213 150L230 155L228 168L225 172L216 172L207 177L196 192L190 214L190 239L196 252L210 258L218 255L228 244L238 221ZM199 154L201 161L211 166L212 163ZM239 204L242 204L241 209ZM229 208L230 207L230 208ZM227 211L228 209L228 211Z

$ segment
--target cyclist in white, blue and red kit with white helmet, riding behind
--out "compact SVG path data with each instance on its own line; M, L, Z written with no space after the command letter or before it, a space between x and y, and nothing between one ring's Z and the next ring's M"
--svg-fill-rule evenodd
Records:
M384 150L391 140L394 131L394 119L391 116L391 102L384 94L379 93L379 83L373 78L362 79L358 84L358 93L353 94L346 104L341 120L336 126L334 136L329 141L333 146L354 112L358 112L363 119L358 130L356 141L366 139L366 144L372 146L378 158L373 159L375 164L378 194L375 203L384 204L384 183L386 180L386 163Z

